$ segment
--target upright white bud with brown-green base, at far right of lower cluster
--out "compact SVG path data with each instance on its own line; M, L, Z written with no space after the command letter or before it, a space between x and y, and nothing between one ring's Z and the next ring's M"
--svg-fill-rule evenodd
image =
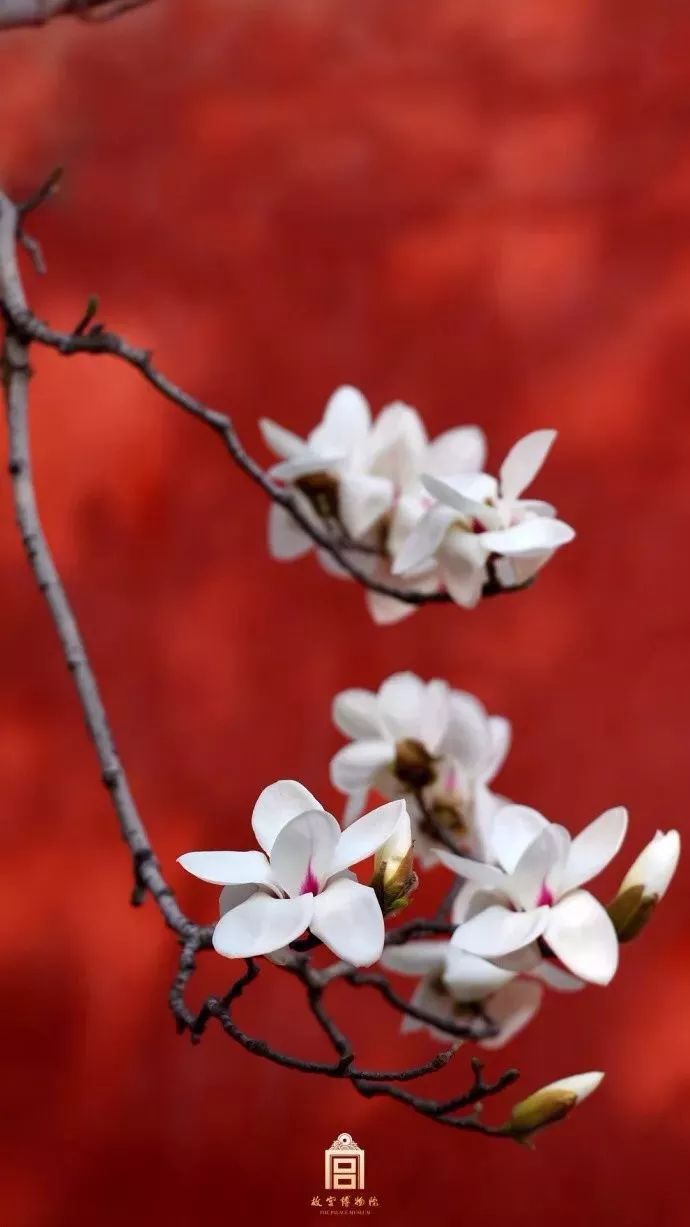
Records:
M668 831L665 834L657 831L627 870L618 894L607 909L619 941L631 941L645 928L670 886L679 855L678 831Z

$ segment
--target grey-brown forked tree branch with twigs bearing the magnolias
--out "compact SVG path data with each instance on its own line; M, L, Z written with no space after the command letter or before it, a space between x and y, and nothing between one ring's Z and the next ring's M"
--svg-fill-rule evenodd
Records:
M1 0L0 0L1 4ZM309 944L303 945L304 952L291 952L291 958L284 971L296 975L306 991L307 1005L319 1028L329 1040L335 1053L335 1061L312 1061L293 1056L274 1048L266 1040L248 1036L232 1016L236 1001L246 989L259 978L259 964L246 960L246 971L227 990L225 996L207 998L200 1010L194 1014L185 1002L185 991L196 969L198 956L211 945L212 929L192 920L179 907L171 886L163 876L156 859L146 827L131 794L126 772L119 760L108 717L101 697L99 687L88 659L85 642L79 628L74 610L65 591L55 562L50 553L41 523L36 491L33 486L31 439L29 439L29 345L41 341L59 352L76 353L113 353L136 367L167 399L179 405L185 412L205 422L219 433L231 455L239 466L262 486L271 498L289 507L300 521L300 508L292 506L290 494L275 487L262 469L244 453L230 418L195 400L188 393L177 388L166 375L157 372L150 355L135 350L114 334L99 330L91 320L95 308L88 309L74 334L53 333L42 324L28 308L17 266L17 244L25 242L23 218L52 195L56 187L53 175L23 206L14 205L0 193L0 309L5 319L5 339L2 347L2 382L5 390L7 432L9 432L9 471L12 487L15 515L26 557L39 591L48 606L53 625L60 643L63 656L72 676L81 703L86 726L93 742L101 778L112 800L119 823L120 834L126 843L133 861L135 886L133 903L140 903L146 892L156 902L166 924L180 940L178 969L169 990L169 1007L180 1032L189 1032L194 1042L199 1042L211 1020L216 1020L222 1031L243 1049L263 1056L287 1069L306 1074L320 1074L327 1077L347 1079L361 1094L386 1094L401 1104L426 1117L432 1117L441 1124L453 1128L474 1129L491 1135L502 1135L501 1130L483 1125L475 1117L455 1117L459 1108L476 1103L479 1098L495 1094L513 1080L514 1071L508 1071L496 1083L485 1085L475 1070L475 1081L468 1092L452 1099L432 1101L411 1096L395 1083L415 1081L443 1069L457 1052L457 1044L436 1053L421 1065L400 1070L367 1070L355 1063L354 1048L330 1017L324 1005L324 991L329 983L341 977L355 988L374 987L397 1011L427 1022L430 1026L446 1031L455 1038L483 1038L495 1033L492 1023L478 1011L476 1026L447 1023L435 1015L416 1010L405 1002L388 983L383 974L357 972L347 964L334 964L318 972L309 963ZM29 250L36 258L36 250ZM319 531L308 526L314 540ZM314 535L316 533L316 535ZM325 547L325 545L324 545ZM338 557L336 548L330 544L330 552ZM351 568L352 569L352 568ZM354 571L356 575L356 571ZM368 587L372 587L368 584ZM383 588L384 585L378 585ZM410 596L411 594L406 594ZM426 598L425 598L426 599ZM400 945L424 933L447 934L453 926L441 921L413 920L393 930L388 941Z

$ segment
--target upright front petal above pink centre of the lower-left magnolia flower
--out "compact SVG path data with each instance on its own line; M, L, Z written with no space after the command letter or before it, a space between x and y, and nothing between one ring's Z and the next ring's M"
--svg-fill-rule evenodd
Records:
M274 882L290 896L317 894L330 877L339 838L338 822L324 810L311 810L291 818L271 848Z

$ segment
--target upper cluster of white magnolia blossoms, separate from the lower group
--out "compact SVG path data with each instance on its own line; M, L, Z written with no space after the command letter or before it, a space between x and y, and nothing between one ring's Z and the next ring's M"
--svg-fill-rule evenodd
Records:
M333 394L307 439L268 418L260 427L280 458L270 476L290 488L307 520L329 529L368 578L399 589L444 591L471 609L486 584L528 583L575 536L550 503L522 497L555 431L519 439L495 479L484 471L486 439L479 427L459 426L430 442L410 405L386 405L373 420L356 388ZM312 547L290 512L271 504L271 555L292 560ZM328 551L318 556L328 571L346 574ZM415 609L368 589L366 599L381 623Z

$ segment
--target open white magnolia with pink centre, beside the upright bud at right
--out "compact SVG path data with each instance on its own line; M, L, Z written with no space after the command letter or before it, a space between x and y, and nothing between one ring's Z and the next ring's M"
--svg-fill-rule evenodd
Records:
M453 872L481 887L475 914L459 930L464 948L483 958L521 948L524 917L540 917L538 934L564 966L592 984L608 984L618 968L614 925L584 882L599 874L618 853L627 828L621 806L607 810L571 839L565 827L548 822L537 810L506 805L496 814L491 853L498 865L436 855ZM534 950L535 962L540 958Z

